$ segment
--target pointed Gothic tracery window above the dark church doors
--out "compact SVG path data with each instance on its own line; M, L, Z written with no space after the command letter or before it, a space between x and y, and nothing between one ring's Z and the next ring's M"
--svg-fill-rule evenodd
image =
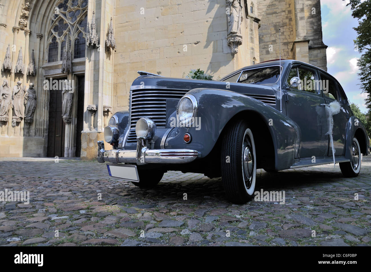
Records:
M85 57L88 0L60 0L51 16L48 35L48 62L62 60L66 34L70 34L73 58ZM72 42L73 41L73 42Z

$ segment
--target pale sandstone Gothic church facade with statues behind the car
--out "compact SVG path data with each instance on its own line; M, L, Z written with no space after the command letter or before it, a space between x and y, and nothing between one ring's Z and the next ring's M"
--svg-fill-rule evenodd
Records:
M326 69L326 47L319 0L0 0L0 157L95 158L137 71Z

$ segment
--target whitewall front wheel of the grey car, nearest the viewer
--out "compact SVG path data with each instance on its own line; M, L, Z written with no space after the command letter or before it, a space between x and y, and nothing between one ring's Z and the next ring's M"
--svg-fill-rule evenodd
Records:
M253 197L256 179L256 152L252 131L238 121L223 135L221 179L227 198L244 204Z

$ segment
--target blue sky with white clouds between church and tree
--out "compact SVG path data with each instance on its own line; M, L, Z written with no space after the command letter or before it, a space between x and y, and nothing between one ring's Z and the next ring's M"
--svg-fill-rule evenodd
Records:
M358 21L352 17L347 3L321 0L322 39L328 46L327 71L340 82L349 101L357 104L362 112L367 112L364 101L367 94L361 93L361 86L357 85L357 59L361 54L354 50L353 40L357 33L353 27L358 26Z

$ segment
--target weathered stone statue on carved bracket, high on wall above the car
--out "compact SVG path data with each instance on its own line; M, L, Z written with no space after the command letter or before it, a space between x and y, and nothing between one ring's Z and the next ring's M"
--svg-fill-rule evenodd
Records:
M238 47L242 45L241 22L242 4L241 0L226 0L227 4L227 44L232 48L232 53L238 53Z

